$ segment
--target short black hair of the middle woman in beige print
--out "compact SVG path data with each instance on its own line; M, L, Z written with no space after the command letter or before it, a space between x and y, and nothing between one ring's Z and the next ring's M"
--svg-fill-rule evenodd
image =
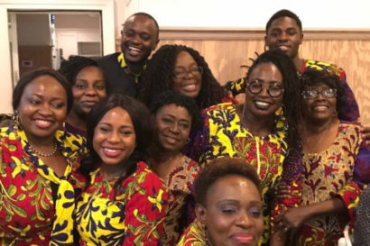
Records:
M165 105L177 105L185 108L191 116L191 126L199 123L199 108L194 99L189 96L182 96L176 91L165 91L153 97L153 102L150 105L151 113L157 114L158 110Z

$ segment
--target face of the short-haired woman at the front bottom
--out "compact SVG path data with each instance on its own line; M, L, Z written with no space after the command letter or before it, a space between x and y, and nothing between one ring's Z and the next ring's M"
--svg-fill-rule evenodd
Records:
M208 240L217 246L255 246L264 231L261 196L239 175L218 178L208 189L206 207L197 205Z

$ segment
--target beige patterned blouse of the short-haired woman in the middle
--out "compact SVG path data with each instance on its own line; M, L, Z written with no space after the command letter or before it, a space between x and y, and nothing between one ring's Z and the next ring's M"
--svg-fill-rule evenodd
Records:
M199 171L200 167L196 161L183 156L178 168L163 178L171 195L164 222L163 245L176 245L181 233L195 217L192 186Z

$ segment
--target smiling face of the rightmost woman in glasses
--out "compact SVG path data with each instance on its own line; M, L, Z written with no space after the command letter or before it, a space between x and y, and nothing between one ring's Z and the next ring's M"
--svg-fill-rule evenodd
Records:
M325 84L319 84L315 87L305 87L305 91L315 90L322 92L330 89ZM318 97L312 99L302 99L302 112L306 119L313 122L326 122L331 120L333 117L337 117L337 98L333 96L326 98L320 93Z

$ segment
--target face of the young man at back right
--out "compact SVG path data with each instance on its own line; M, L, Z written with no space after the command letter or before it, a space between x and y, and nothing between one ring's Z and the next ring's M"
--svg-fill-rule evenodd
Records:
M300 27L294 19L286 16L274 20L264 37L265 45L269 49L279 48L291 59L298 57L302 40Z

